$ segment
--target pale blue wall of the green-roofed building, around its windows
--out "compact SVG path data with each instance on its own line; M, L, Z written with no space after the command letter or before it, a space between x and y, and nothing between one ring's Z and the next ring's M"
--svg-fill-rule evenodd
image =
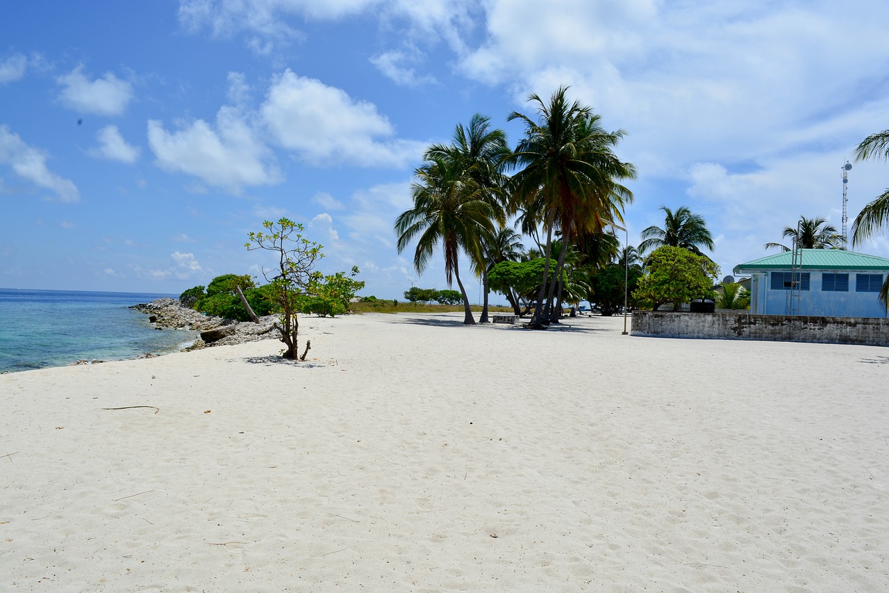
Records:
M780 272L780 271L775 271ZM789 272L789 270L787 271ZM809 289L799 292L800 315L813 315L822 317L880 317L886 318L885 307L879 301L877 292L857 292L855 290L855 274L858 273L882 273L883 280L889 270L883 272L837 270L805 271L809 274ZM750 313L760 315L787 315L789 310L789 290L773 290L771 286L773 272L756 272L750 283L751 301ZM848 292L833 292L822 290L822 273L848 273Z

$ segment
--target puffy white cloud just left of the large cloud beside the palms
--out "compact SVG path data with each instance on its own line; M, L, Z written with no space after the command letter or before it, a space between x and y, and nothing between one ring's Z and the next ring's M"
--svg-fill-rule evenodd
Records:
M274 155L248 121L232 107L216 116L216 129L197 119L178 132L148 120L148 146L157 165L167 171L195 175L207 185L240 193L245 186L280 183Z

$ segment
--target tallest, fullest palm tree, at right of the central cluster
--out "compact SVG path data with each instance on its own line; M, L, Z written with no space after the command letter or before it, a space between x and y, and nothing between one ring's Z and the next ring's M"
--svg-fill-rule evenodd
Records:
M562 249L550 273L553 232L561 231L562 240L572 242L582 232L622 220L624 204L633 195L617 180L636 176L636 168L613 153L624 132L606 132L600 116L580 102L568 102L566 91L560 87L549 103L537 94L528 98L536 103L537 121L516 111L508 118L525 123L525 138L504 161L520 168L512 177L513 209L524 210L524 224L541 226L547 238L543 281L530 323L534 328L549 325L557 279L565 265L567 249Z

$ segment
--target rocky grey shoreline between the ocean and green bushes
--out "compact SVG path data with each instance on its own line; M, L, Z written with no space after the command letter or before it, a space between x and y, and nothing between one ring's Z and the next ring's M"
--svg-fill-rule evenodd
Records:
M260 317L259 323L212 317L189 309L174 298L157 298L150 303L132 305L146 313L156 329L192 329L200 332L193 345L183 350L198 350L213 345L236 345L256 340L274 339L277 315Z

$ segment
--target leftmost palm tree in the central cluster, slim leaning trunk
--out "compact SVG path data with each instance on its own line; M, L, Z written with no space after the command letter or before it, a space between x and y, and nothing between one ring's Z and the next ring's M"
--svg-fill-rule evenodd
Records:
M465 175L457 160L440 156L428 159L415 176L417 181L411 185L413 207L398 215L395 222L398 253L416 238L413 267L422 273L441 243L445 251L445 280L449 287L453 279L457 280L463 296L463 322L474 324L469 296L460 279L459 256L462 248L470 258L479 257L479 238L492 230L493 209L483 199L484 192L478 183Z

